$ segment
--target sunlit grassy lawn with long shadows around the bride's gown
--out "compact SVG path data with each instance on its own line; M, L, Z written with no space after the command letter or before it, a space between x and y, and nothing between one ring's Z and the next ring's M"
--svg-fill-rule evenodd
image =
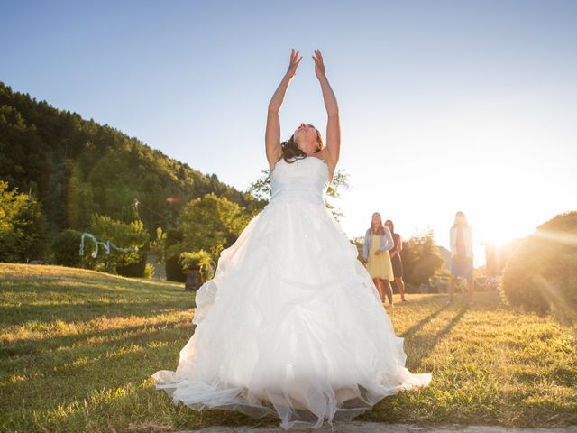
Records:
M389 309L422 391L358 419L556 427L577 424L576 327L503 305L410 295ZM396 296L396 300L397 296ZM0 263L0 431L170 431L278 425L174 406L150 379L174 369L194 328L181 284Z

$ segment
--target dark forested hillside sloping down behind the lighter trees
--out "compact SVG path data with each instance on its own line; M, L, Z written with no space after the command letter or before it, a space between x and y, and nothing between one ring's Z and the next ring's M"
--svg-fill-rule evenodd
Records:
M193 155L194 158L194 155ZM135 137L14 92L0 82L0 180L41 201L51 234L83 230L94 212L153 233L208 192L251 207L252 196L191 169Z

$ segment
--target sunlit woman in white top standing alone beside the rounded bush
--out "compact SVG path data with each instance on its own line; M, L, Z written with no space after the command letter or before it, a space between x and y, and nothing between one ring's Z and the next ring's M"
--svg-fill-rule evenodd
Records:
M472 304L472 228L467 223L467 217L461 211L454 217L450 233L451 244L451 278L449 279L449 299L453 302L454 284L457 278L465 281L467 298Z

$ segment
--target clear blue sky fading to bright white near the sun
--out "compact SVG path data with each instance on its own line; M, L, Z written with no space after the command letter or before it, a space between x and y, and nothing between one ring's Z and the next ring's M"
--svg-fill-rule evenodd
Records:
M554 0L0 0L0 80L246 189L292 47L305 58L282 135L325 133L319 48L352 186L344 230L378 210L446 245L460 209L481 241L577 207L575 23L577 2Z

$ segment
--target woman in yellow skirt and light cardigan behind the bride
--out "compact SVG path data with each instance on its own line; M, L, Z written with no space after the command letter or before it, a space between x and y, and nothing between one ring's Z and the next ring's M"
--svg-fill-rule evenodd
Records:
M362 258L367 271L371 274L380 299L384 300L383 286L389 299L389 306L393 306L393 290L390 281L394 280L393 266L390 262L389 250L394 246L393 237L387 227L382 225L379 212L372 214L371 227L364 235Z

